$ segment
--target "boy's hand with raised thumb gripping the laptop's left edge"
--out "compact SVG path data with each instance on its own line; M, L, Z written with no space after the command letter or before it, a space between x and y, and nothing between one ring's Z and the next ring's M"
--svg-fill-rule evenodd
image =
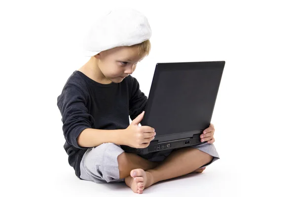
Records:
M134 148L146 148L150 141L156 135L155 130L148 126L139 126L144 117L144 111L133 120L133 122L124 130L124 145Z

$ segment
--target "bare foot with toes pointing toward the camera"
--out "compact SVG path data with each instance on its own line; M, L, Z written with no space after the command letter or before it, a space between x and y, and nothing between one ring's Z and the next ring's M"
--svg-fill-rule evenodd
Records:
M133 169L131 176L125 178L125 184L132 189L134 193L142 194L145 188L153 184L152 175L143 169Z

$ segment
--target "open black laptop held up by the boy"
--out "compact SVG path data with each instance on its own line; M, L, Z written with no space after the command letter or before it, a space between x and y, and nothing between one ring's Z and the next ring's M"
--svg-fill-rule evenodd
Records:
M225 62L158 63L142 126L155 129L147 148L121 148L130 153L197 145L210 126Z

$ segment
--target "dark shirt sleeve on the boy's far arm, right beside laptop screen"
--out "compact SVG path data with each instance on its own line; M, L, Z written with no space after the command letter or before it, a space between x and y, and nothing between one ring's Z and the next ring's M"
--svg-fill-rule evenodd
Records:
M134 120L146 110L148 98L141 92L139 82L134 77L132 87L132 94L129 100L129 115L131 120Z

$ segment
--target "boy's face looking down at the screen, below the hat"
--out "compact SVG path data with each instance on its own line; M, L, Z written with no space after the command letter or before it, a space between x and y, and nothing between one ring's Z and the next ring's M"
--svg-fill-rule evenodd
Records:
M132 74L137 63L144 59L139 55L137 46L123 46L102 51L95 56L97 66L99 66L103 80L110 80L114 83L120 83L125 77Z

